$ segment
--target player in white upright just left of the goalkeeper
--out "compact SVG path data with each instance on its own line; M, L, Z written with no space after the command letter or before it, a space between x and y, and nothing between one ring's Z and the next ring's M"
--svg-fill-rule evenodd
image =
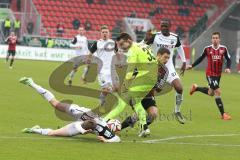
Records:
M110 39L110 32L107 26L101 27L101 39L94 42L90 47L88 63L93 56L101 61L98 64L98 81L101 87L100 104L103 105L105 97L110 92L115 92L119 87L119 79L116 73L117 55L115 53L115 41Z

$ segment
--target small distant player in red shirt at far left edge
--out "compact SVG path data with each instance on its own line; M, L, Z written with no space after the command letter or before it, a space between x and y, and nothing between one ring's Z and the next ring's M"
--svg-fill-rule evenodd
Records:
M17 45L17 36L15 36L15 33L11 32L10 36L7 37L5 42L8 43L8 54L6 57L6 62L8 62L9 57L12 56L11 61L10 61L10 66L9 66L9 68L12 69L14 57L16 54L16 45Z

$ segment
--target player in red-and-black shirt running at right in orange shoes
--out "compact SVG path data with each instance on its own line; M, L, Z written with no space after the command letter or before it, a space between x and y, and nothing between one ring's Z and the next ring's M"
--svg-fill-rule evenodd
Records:
M212 45L205 47L202 55L192 65L189 65L187 69L195 67L202 62L205 57L207 57L208 62L206 68L206 77L209 88L198 87L197 84L193 84L190 90L190 95L192 95L195 91L199 91L209 96L215 96L215 101L222 115L222 119L230 120L231 116L224 112L223 103L220 97L221 91L219 88L219 83L221 79L224 58L227 60L227 67L225 69L226 73L231 73L231 60L227 48L223 45L220 45L219 32L214 32L212 34Z

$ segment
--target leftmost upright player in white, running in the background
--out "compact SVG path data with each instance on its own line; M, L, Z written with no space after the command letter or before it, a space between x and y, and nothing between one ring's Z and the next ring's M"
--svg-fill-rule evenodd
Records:
M87 37L84 36L85 34L85 30L83 27L79 27L78 29L78 34L74 37L74 39L72 40L72 43L70 44L71 48L76 49L76 56L75 58L73 58L73 69L69 74L69 80L68 80L68 84L72 85L72 79L75 75L75 73L77 72L77 69L80 65L81 62L84 61L84 56L87 56L88 54L88 40ZM87 65L84 68L84 72L82 74L82 80L85 81L85 77L86 74L89 70L89 66Z

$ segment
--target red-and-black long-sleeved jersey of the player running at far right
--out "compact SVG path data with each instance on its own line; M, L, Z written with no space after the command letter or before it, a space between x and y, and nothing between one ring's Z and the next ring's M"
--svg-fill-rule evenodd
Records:
M207 76L221 76L224 57L227 60L227 68L231 67L230 55L226 46L219 45L216 49L213 45L205 47L202 55L192 64L192 67L198 65L205 57L207 57Z

